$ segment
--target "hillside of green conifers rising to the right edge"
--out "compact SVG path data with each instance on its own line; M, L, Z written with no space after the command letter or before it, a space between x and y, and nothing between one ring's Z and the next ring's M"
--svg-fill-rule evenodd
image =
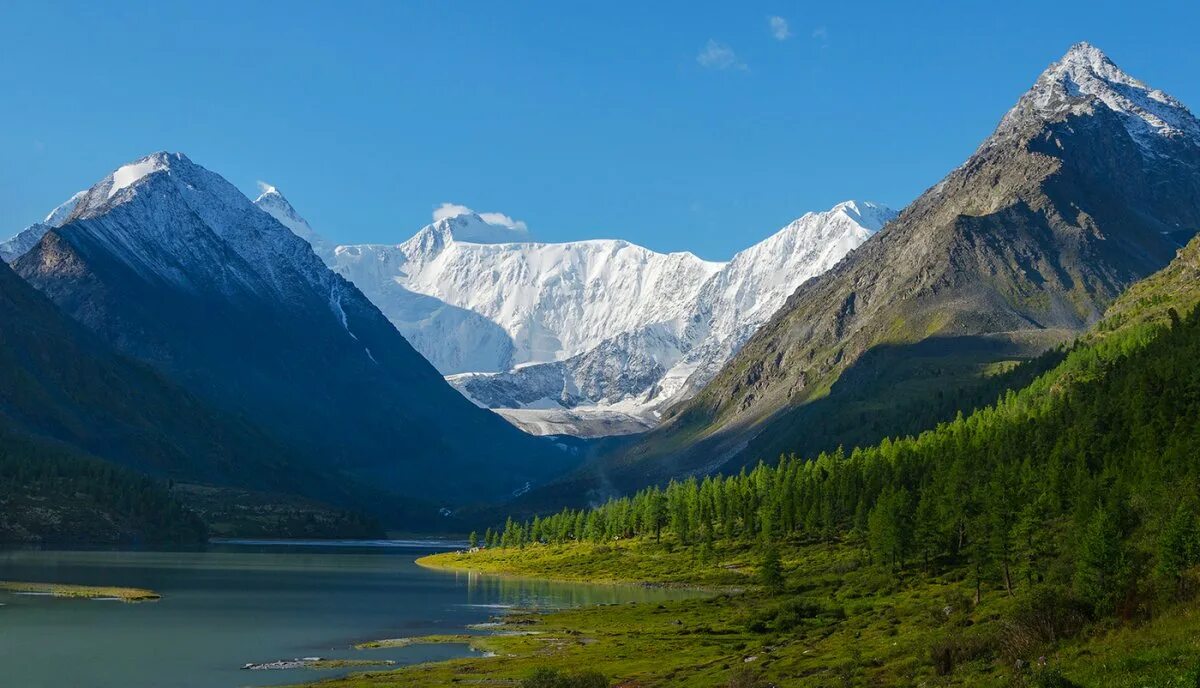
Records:
M1034 623L1022 614L1049 614L1045 633L1034 635L1050 646L1105 620L1158 618L1200 590L1198 303L1193 240L1061 363L982 411L865 449L785 456L594 509L510 520L484 540L500 549L503 570L512 569L503 564L509 548L536 557L536 543L661 542L695 552L697 572L750 548L760 581L780 586L787 567L779 552L786 561L787 552L828 548L833 561L848 549L893 580L914 580L914 594L953 581L973 605L995 596L1024 600L1009 610L1016 616L979 621L1003 629ZM802 590L828 582L806 578L805 566L791 572ZM710 575L701 578L730 572ZM940 666L992 657L992 641L977 641L946 640ZM938 657L935 648L935 664Z

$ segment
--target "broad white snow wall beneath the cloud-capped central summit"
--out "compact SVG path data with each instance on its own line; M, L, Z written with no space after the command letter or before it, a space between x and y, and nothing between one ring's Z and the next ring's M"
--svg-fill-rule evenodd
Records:
M426 355L443 373L563 360L614 334L682 317L720 269L691 253L656 253L618 240L481 241L493 234L491 227L476 214L444 217L400 246L338 246L334 263L350 281L368 285L368 297L410 340L433 327L439 336ZM482 316L508 341L484 360L448 358L440 335L449 328L439 321L457 324L460 316L414 312L407 294L388 299L374 288L380 281Z

